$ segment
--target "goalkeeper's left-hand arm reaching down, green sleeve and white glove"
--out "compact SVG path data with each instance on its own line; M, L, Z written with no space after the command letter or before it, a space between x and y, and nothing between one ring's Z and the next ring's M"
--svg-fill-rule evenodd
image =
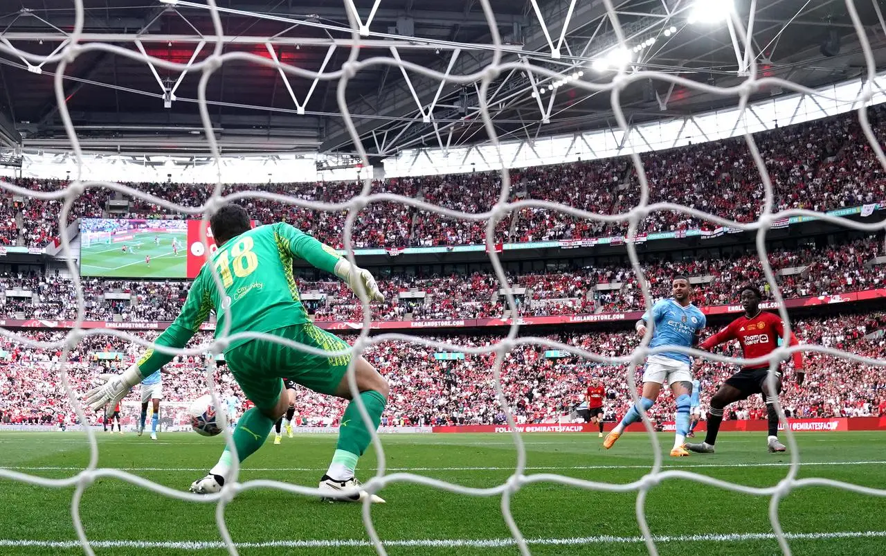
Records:
M154 341L154 345L184 348L194 333L200 329L200 325L213 309L203 276L201 272L194 280L188 292L188 299L184 301L182 311L175 318L175 322ZM99 379L104 380L105 383L86 393L86 403L92 409L98 410L106 403L113 405L120 402L132 387L144 380L144 377L151 375L172 361L173 357L171 354L148 348L126 371L120 374L99 375Z

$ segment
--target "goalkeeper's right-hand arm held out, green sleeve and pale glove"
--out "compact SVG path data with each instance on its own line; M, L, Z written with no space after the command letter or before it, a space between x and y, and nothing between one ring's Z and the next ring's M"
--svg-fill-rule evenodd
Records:
M369 270L354 266L345 257L338 255L335 249L318 241L307 233L298 230L288 223L276 223L275 234L278 241L289 248L293 256L304 259L318 269L335 274L345 281L354 294L360 295L360 286L369 296L369 301L385 301L385 296L378 290L376 279Z

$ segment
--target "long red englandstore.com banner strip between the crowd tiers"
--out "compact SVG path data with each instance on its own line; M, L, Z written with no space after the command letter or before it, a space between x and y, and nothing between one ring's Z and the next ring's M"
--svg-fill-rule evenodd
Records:
M197 223L199 221L191 221L190 223ZM198 229L199 230L199 229ZM198 231L199 233L199 231ZM189 230L190 237L190 230ZM211 241L211 239L210 239ZM193 244L191 244L193 245ZM200 247L197 247L199 251L202 247L202 244L199 244ZM214 247L214 244L211 245ZM193 255L191 249L188 251L188 272L191 271L191 259L195 259L195 264L202 265L204 262L203 255ZM196 273L199 271L199 266L196 267ZM834 294L834 295L820 295L818 297L802 297L798 299L789 299L785 301L785 306L788 309L797 309L803 307L814 307L820 305L833 305L838 303L853 303L859 301L871 301L875 299L884 299L886 298L886 289L879 288L874 290L865 290L862 292L852 292L851 294ZM760 303L761 309L776 309L777 305L774 301L764 301ZM741 305L714 305L711 307L703 307L701 308L702 312L705 315L727 315L730 313L739 313L742 311ZM616 321L633 321L642 316L642 311L630 311L624 313L596 313L595 315L556 315L553 317L519 317L517 318L517 324L519 325L575 325L582 323L601 323L601 322L616 322ZM420 330L424 328L435 329L435 328L474 328L474 327L486 327L486 326L510 326L513 323L514 319L512 318L453 318L453 319L439 319L439 320L389 320L389 321L374 321L370 324L370 327L375 330ZM153 323L136 323L136 322L104 322L104 321L86 321L83 323L83 328L128 328L133 330L163 330L167 328L171 323L165 322L153 322ZM360 330L363 327L363 323L361 322L341 322L341 321L323 321L318 320L315 321L315 325L319 328L323 328L324 330L331 331L343 331L343 330ZM53 321L53 320L42 320L42 319L28 319L28 320L14 320L14 319L0 319L0 326L8 327L8 328L73 328L74 321L71 320L62 320L62 321ZM208 323L203 325L203 330L214 330L215 325Z

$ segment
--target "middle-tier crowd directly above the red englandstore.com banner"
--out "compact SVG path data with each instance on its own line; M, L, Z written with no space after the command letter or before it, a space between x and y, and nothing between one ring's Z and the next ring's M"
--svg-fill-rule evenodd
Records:
M879 236L870 236L830 247L776 249L769 253L769 262L773 270L781 272L779 286L786 298L873 289L886 284L886 266L871 264L882 254L882 241ZM735 285L765 283L762 266L753 254L716 259L699 257L692 262L649 262L644 263L643 270L655 296L667 294L674 274L705 280L696 285L695 300L701 306L734 302ZM116 315L128 322L174 319L189 288L188 282L176 280L83 278L81 283L87 320L113 320ZM600 285L617 286L609 290L600 289ZM379 286L386 301L373 305L374 320L494 318L507 314L501 286L492 273L431 278L391 276L379 278ZM516 300L518 313L525 317L643 308L637 279L626 265L511 275L509 286L525 288L517 290ZM362 318L360 302L335 278L330 277L330 281L301 279L299 290L312 294L307 295L304 302L316 320ZM769 297L769 287L764 286L764 290ZM419 295L400 297L400 293L410 291ZM25 294L27 292L31 294ZM0 300L4 300L0 306L5 313L13 318L71 320L76 316L73 282L58 273L0 275Z

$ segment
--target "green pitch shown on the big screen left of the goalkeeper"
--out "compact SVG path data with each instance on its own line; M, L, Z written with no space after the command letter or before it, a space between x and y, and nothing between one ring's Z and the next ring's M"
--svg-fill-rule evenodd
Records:
M108 276L114 278L185 278L188 267L187 232L175 231L156 234L140 232L133 239L113 244L94 243L80 249L80 273L82 276ZM154 238L159 236L159 246ZM178 255L173 255L172 239L178 242ZM126 245L128 250L123 253ZM132 251L132 247L136 247ZM151 256L151 266L144 263L144 256Z

